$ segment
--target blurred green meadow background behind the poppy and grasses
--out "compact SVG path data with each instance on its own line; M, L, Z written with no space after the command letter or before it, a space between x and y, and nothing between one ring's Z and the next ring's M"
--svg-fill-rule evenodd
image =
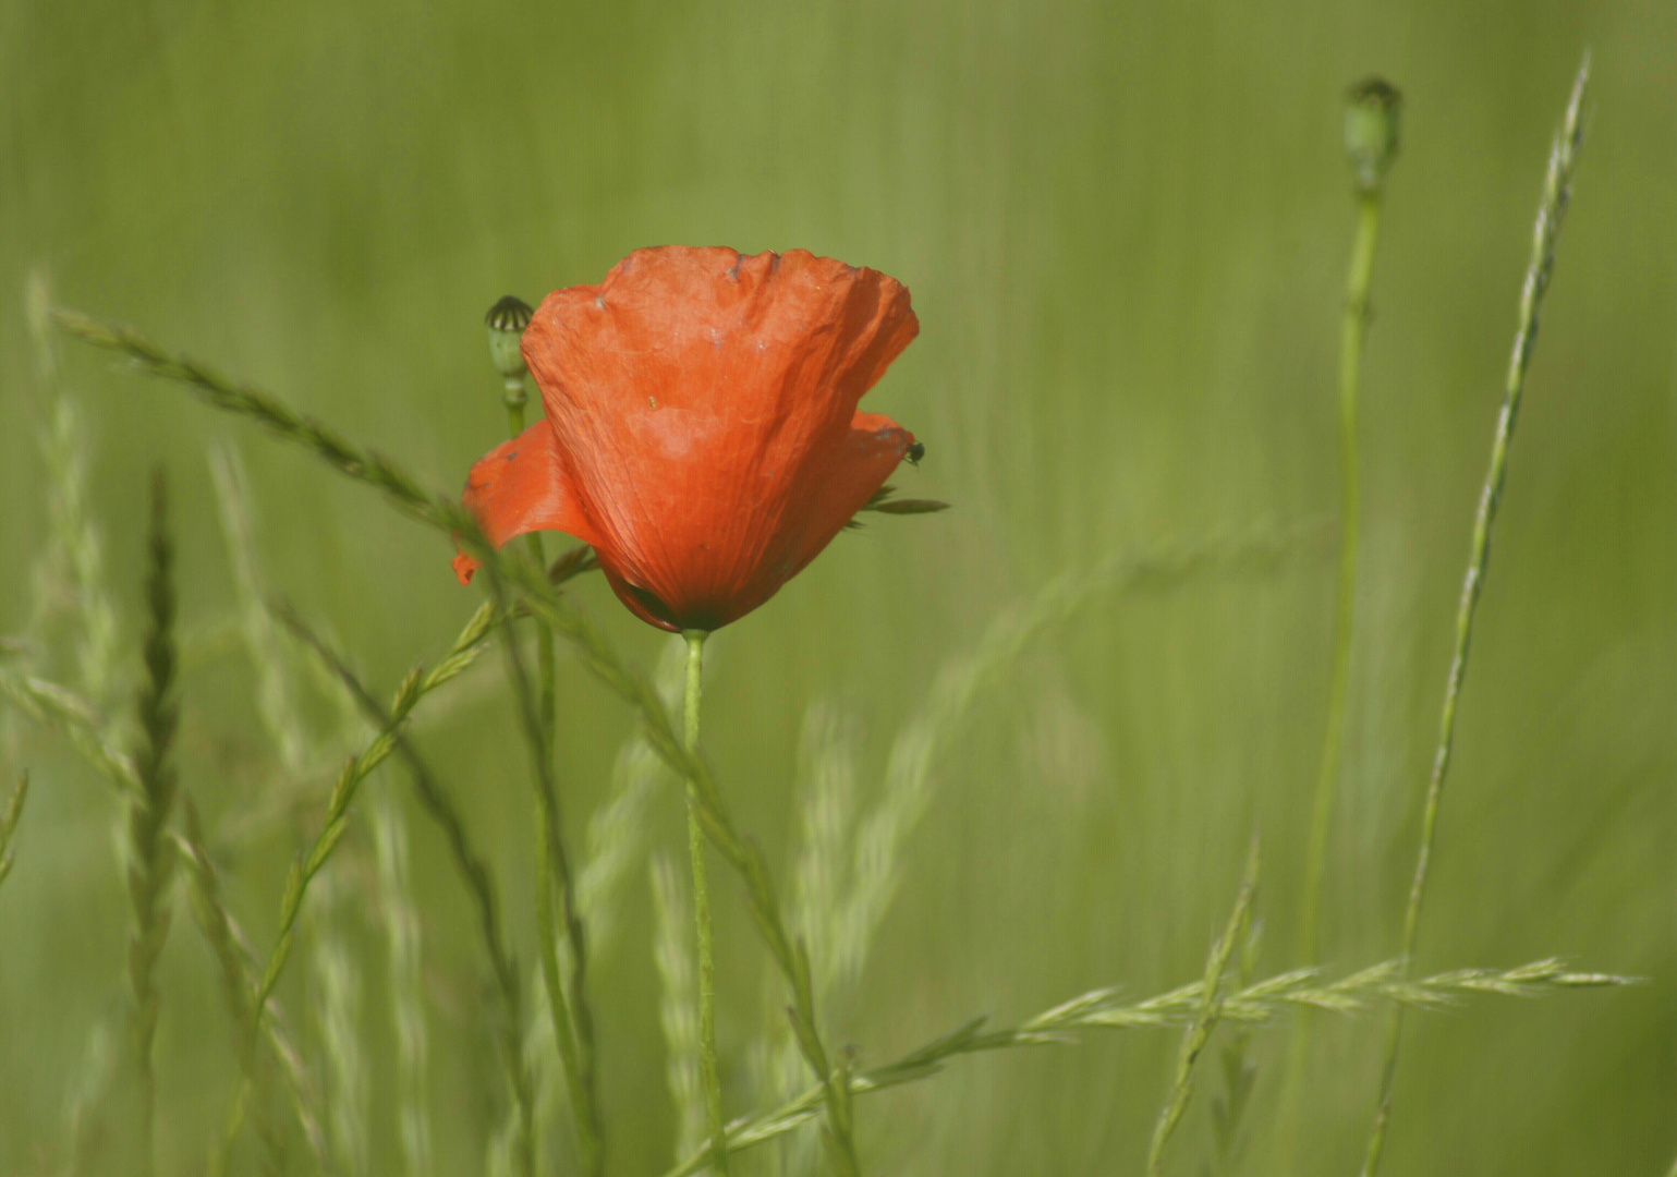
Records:
M268 582L381 692L480 597L454 583L444 542L307 454L75 345L57 347L54 376L27 325L32 275L453 488L501 438L480 322L500 295L597 282L664 241L830 253L914 293L922 335L867 404L927 443L921 469L896 480L904 493L956 510L840 537L713 642L706 744L783 877L812 704L854 718L870 803L939 667L1057 573L1254 526L1321 537L1273 567L1095 597L976 699L934 763L936 796L860 989L833 1011L835 1041L884 1060L973 1014L1018 1019L1095 986L1140 998L1197 977L1254 828L1261 967L1291 967L1332 632L1353 221L1342 91L1380 72L1407 96L1405 141L1375 265L1325 907L1328 962L1373 964L1397 951L1531 216L1585 47L1590 137L1514 443L1419 967L1556 954L1648 983L1412 1018L1387 1172L1664 1174L1677 1152L1670 5L5 0L0 630L23 630L39 599L52 483L39 438L62 391L82 409L131 677L146 469L166 461L174 480L196 635L183 786L265 947L329 781L305 781L307 803L263 837L235 837L243 815L273 808L277 773L252 667L216 637L235 583L208 448L231 438L243 453ZM574 597L641 664L657 661L664 635L599 578ZM75 637L57 637L44 669L74 684ZM419 738L468 798L528 962L525 754L498 666ZM580 840L632 723L569 656L560 689ZM322 708L315 719L330 756L349 749ZM62 738L8 723L0 768L30 766L35 791L0 890L0 1172L69 1172L77 1133L87 1172L124 1170L116 806ZM367 790L411 827L436 1172L478 1172L505 1095L468 907L402 773ZM674 788L649 833L681 850ZM367 1172L401 1172L362 825L340 857L337 902L280 993L330 1073L309 946L335 929L361 976ZM729 1112L743 1113L760 1098L751 1043L781 996L736 900L719 882L719 1033ZM672 1155L651 929L636 863L594 974L624 1174ZM184 900L161 984L163 1169L196 1172L236 1066ZM1301 1170L1347 1174L1380 1021L1318 1019L1315 1041ZM874 1172L1137 1172L1176 1050L1174 1033L1129 1031L958 1061L869 1097L864 1150ZM1286 1029L1261 1031L1253 1056L1243 1170L1264 1174ZM1209 1155L1219 1088L1207 1066L1176 1172Z

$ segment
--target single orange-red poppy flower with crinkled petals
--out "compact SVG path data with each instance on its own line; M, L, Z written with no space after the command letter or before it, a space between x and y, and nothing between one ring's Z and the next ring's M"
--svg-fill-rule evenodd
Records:
M667 630L738 620L798 575L914 444L855 406L919 320L877 270L805 250L637 250L523 334L547 417L471 468L496 547L569 531ZM461 583L476 562L461 553Z

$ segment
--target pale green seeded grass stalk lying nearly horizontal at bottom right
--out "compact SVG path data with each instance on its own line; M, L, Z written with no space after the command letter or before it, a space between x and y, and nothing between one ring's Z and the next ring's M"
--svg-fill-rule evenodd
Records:
M1400 961L1387 961L1338 981L1323 981L1320 969L1293 969L1229 993L1219 1016L1243 1026L1268 1026L1296 1009L1327 1009L1353 1016L1375 1004L1402 1004L1417 1009L1454 1009L1474 994L1536 998L1570 989L1593 989L1632 984L1630 977L1603 972L1573 972L1561 961L1545 959L1514 969L1456 969L1430 977L1405 979ZM934 1038L901 1058L849 1075L852 1095L884 1091L904 1083L917 1083L937 1075L944 1065L963 1055L978 1055L1015 1046L1068 1046L1088 1029L1169 1029L1192 1026L1204 1006L1204 979L1171 989L1145 1001L1122 1001L1120 991L1093 989L1053 1009L1005 1029L986 1031L986 1018ZM743 1152L753 1145L792 1132L822 1112L825 1091L812 1086L787 1103L728 1125L728 1150ZM691 1177L709 1164L706 1142L662 1177Z

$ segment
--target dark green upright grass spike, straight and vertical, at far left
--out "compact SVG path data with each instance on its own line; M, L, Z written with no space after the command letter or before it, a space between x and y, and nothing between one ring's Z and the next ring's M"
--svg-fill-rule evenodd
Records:
M169 879L174 870L168 838L174 808L174 765L169 746L179 718L174 703L174 543L169 538L168 488L163 469L151 478L151 535L148 542L144 640L146 677L139 687L139 748L134 754L139 790L127 811L127 895L132 934L127 946L127 979L134 993L132 1041L138 1071L136 1152L143 1172L156 1172L158 1088L151 1053L158 1036L158 956L169 936Z

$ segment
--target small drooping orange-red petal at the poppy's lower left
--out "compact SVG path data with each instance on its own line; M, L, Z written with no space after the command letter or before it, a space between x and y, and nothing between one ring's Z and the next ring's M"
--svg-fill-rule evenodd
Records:
M553 428L545 419L478 459L466 480L465 503L496 548L530 531L569 531L594 543L594 526L570 490ZM478 568L465 552L453 565L463 585Z

